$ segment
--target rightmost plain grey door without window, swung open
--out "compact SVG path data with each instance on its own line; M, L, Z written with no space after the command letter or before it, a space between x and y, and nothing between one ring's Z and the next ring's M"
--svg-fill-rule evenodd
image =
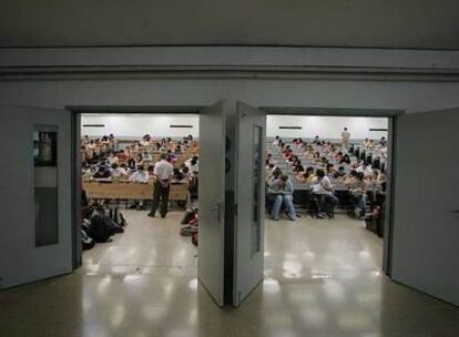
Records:
M398 118L394 279L459 305L459 109Z

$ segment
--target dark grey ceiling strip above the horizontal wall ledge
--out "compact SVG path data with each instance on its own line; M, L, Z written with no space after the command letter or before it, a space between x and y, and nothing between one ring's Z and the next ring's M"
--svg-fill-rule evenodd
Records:
M458 0L2 0L0 47L459 50Z

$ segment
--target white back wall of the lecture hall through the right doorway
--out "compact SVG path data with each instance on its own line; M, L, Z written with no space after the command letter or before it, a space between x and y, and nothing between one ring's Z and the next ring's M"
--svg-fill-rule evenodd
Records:
M369 131L369 129L387 129L388 120L385 118L335 118L335 116L289 116L268 115L266 135L273 137L303 137L312 139L340 139L346 126L353 139L387 137L387 132ZM302 126L302 130L278 129L279 126Z

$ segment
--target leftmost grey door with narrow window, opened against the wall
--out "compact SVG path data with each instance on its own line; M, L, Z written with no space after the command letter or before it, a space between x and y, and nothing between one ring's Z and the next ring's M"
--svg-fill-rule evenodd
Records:
M54 166L34 167L37 130L57 133ZM69 111L0 105L2 288L72 270L71 134Z

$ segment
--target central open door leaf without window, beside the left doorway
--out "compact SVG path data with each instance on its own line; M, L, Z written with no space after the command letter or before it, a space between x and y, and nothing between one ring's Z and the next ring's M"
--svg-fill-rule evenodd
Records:
M224 305L225 115L224 103L200 112L200 243L197 276Z

